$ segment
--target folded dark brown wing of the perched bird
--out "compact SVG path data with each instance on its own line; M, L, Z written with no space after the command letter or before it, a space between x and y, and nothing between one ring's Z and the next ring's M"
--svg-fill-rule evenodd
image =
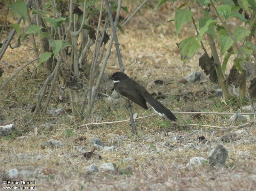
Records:
M130 86L131 85L131 86ZM118 92L120 95L130 99L134 103L138 104L139 106L143 107L144 109L148 109L148 106L146 104L146 100L143 98L143 96L134 88L134 85L130 81L129 86L122 86L119 85L119 83L116 85L116 92ZM139 84L138 84L139 85Z

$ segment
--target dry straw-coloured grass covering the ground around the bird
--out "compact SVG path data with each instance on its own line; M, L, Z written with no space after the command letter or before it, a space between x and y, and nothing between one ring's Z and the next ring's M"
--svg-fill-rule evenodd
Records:
M132 10L132 7L129 7L129 10ZM163 6L157 12L151 10L151 7L142 9L142 15L137 14L132 19L124 28L124 34L118 33L125 72L129 76L147 86L149 92L166 92L173 95L192 92L186 99L178 99L175 96L162 99L164 105L171 110L236 112L240 107L250 104L236 99L224 101L212 96L210 90L216 90L218 85L210 81L203 84L152 86L151 82L154 80L171 82L192 71L200 70L198 58L203 52L183 64L175 43L187 35L194 34L192 25L184 27L177 37L174 23L165 23L173 17L170 7ZM28 43L27 41L27 45ZM5 70L1 84L17 67L35 57L25 45L19 49L7 49L2 59L5 62L0 63L0 67ZM13 65L14 69L8 69L10 65ZM118 63L113 48L106 73L111 74L117 70ZM237 140L223 143L221 132L212 136L212 133L219 129L181 127L179 124L228 126L230 116L227 115L202 115L198 118L176 114L178 124L160 117L145 118L136 122L138 137L132 136L128 122L79 129L77 126L82 122L69 114L58 117L44 116L30 121L30 109L36 103L36 94L43 82L43 77L30 76L25 72L15 77L0 92L0 104L3 106L0 111L1 120L16 122L17 129L11 136L0 138L0 177L4 171L12 168L31 170L33 177L21 180L36 180L37 190L256 189L255 126L244 128L246 132L237 135ZM105 82L104 86L111 87L112 84ZM56 106L56 102L53 101L51 106ZM67 104L60 106L68 108ZM138 112L139 116L153 113L151 109L145 111L136 105L133 105L133 111ZM91 121L117 121L127 118L123 100L112 103L101 97L95 103ZM243 121L236 122L242 123ZM67 129L72 129L73 134L68 134ZM198 131L187 136L194 130ZM234 134L236 130L238 129L229 129L224 135ZM79 141L81 136L85 136L86 140ZM211 138L210 143L198 143L198 136ZM88 140L92 137L100 138L104 145L116 145L117 150L98 150L92 158L85 159L78 150L91 150ZM49 139L60 140L64 147L42 150L40 143ZM216 168L209 164L186 167L191 157L201 156L207 159L217 143L222 143L229 151L225 167ZM127 157L132 157L133 160L123 164L122 159ZM94 163L99 167L104 162L115 163L118 168L131 166L132 173L121 175L98 172L87 175L81 170L86 165Z

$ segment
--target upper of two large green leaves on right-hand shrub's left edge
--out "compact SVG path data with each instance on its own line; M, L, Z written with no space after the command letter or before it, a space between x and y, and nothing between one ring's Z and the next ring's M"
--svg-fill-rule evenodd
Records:
M193 12L187 9L177 9L175 12L176 33L179 35L180 28L193 17Z

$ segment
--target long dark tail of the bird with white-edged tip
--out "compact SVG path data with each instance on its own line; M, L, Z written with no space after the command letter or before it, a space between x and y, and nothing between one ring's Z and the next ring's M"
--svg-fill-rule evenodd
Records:
M142 96L146 99L146 101L152 106L154 111L160 116L166 116L171 121L175 121L177 118L175 115L160 102L156 101L148 92L144 92Z

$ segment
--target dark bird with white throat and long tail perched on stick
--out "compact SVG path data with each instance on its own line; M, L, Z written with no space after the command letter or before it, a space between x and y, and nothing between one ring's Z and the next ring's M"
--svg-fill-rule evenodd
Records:
M148 102L158 115L161 117L166 116L169 120L176 121L177 118L167 107L153 98L146 88L128 77L125 73L115 72L107 79L113 80L114 89L118 94L130 99L144 109L148 109L146 104Z

